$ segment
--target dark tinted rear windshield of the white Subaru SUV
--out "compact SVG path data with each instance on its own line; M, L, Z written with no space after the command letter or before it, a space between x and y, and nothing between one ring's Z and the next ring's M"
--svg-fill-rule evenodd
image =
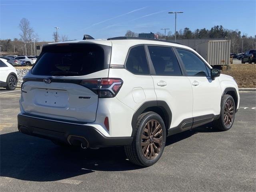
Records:
M76 43L45 46L32 68L34 75L82 76L109 67L111 47Z

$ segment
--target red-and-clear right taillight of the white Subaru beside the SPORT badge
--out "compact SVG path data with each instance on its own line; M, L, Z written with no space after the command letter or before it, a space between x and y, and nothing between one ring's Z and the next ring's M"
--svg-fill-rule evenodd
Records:
M123 84L119 78L101 78L82 80L80 85L98 94L99 98L111 98L116 96Z

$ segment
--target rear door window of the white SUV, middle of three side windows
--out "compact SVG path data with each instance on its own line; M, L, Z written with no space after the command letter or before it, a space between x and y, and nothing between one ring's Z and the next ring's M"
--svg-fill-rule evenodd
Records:
M148 50L156 75L182 75L172 48L148 46Z

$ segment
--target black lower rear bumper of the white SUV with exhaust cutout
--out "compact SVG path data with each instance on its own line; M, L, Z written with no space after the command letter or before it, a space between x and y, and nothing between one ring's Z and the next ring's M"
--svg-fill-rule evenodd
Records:
M92 126L57 122L18 114L18 130L24 134L87 148L123 146L132 143L132 137L106 137Z

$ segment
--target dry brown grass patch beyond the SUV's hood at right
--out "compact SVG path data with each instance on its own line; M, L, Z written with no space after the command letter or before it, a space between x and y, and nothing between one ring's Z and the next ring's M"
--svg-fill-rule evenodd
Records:
M234 77L239 88L256 88L256 64L230 64L230 66L231 71L222 70L221 73Z

